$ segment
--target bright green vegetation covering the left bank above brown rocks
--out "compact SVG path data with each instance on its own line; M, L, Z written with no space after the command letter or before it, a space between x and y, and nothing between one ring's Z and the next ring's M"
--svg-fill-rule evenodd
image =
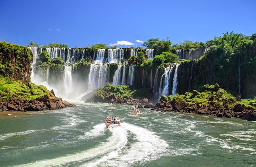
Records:
M0 76L0 101L33 100L44 95L52 95L46 87L37 86L32 82L24 83L21 80Z

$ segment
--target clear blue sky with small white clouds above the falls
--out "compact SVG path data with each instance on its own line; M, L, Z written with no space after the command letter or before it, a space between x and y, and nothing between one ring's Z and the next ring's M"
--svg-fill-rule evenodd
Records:
M256 32L256 0L0 0L0 41L141 46Z

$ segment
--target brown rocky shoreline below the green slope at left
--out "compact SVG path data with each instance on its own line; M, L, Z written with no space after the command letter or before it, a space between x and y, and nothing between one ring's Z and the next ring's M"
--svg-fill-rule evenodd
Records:
M0 102L0 111L43 111L69 106L73 106L73 104L62 100L62 98L49 98L48 95L45 95L36 100L9 100L8 102Z

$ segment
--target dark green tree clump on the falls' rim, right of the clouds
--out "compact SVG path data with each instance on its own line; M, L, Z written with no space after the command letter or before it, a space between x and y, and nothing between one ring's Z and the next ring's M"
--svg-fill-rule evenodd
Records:
M154 49L156 54L161 54L171 49L171 41L160 41L158 38L151 38L148 39L148 42L144 42L142 46L147 49Z

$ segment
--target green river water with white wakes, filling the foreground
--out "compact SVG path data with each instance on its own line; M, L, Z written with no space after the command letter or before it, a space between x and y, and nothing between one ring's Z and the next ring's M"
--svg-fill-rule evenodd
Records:
M256 166L255 121L75 103L0 117L0 166ZM108 112L121 127L105 127Z

